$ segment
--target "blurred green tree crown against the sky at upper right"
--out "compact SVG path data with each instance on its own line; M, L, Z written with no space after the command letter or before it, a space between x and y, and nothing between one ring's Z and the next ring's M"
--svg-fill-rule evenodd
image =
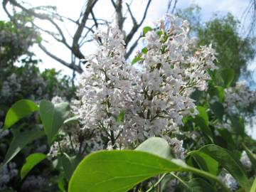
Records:
M239 21L228 14L223 18L213 17L206 22L205 27L200 26L197 31L200 45L213 43L213 48L220 53L216 65L234 70L233 83L238 80L249 61L255 57L255 38L242 38L238 34L239 25ZM230 79L231 73L225 71L223 75Z

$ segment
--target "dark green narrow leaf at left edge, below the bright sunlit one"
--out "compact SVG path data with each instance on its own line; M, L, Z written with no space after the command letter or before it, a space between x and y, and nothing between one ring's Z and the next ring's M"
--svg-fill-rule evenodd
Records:
M6 152L6 156L4 158L3 165L8 164L11 159L18 154L24 146L28 143L32 142L34 139L41 137L43 132L38 129L32 129L26 132L20 132L14 136L14 139L11 140L11 144L9 149Z

